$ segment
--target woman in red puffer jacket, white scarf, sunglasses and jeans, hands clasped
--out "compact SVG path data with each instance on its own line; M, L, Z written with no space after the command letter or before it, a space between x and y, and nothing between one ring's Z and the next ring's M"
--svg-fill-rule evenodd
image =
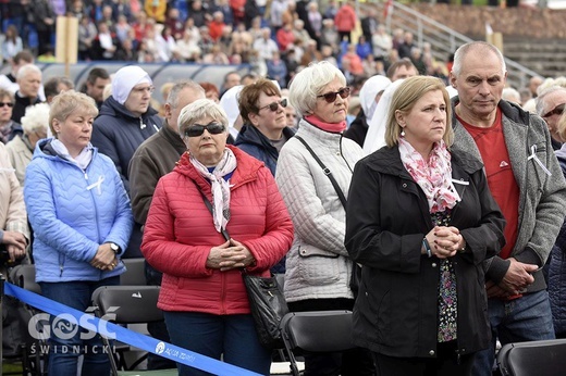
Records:
M291 217L263 163L226 146L220 105L193 102L179 127L187 152L158 183L142 245L163 272L158 306L174 344L269 375L271 351L256 335L241 268L269 276L291 248ZM177 367L180 375L208 375Z

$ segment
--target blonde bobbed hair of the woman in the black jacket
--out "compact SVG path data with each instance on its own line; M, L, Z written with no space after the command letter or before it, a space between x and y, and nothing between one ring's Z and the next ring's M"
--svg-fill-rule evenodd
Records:
M415 103L422 98L429 91L440 90L446 104L446 130L442 139L447 147L454 142L454 130L451 126L452 121L452 108L448 92L444 83L436 77L432 76L415 76L406 78L395 90L391 100L391 105L387 110L387 123L385 128L385 143L387 147L394 147L398 143L402 127L397 124L395 118L395 111L401 111L403 114L408 114Z

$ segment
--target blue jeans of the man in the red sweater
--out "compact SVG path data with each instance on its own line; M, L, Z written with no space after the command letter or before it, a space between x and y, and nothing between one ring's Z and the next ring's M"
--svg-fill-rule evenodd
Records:
M488 301L492 346L479 351L473 361L473 376L491 376L495 361L495 340L501 344L510 342L554 339L551 304L546 290L524 294L521 298L504 301Z

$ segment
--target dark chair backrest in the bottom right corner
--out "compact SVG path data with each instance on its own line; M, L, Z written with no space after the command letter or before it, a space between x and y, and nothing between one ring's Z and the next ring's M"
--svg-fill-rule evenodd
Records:
M566 339L504 344L497 364L504 376L559 375L566 369Z

